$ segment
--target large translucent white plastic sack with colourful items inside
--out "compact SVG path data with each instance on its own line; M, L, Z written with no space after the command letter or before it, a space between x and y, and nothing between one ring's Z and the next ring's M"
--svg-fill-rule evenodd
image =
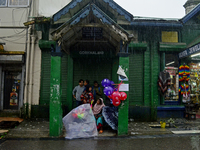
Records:
M74 108L63 118L66 139L89 138L98 135L95 117L89 104Z

